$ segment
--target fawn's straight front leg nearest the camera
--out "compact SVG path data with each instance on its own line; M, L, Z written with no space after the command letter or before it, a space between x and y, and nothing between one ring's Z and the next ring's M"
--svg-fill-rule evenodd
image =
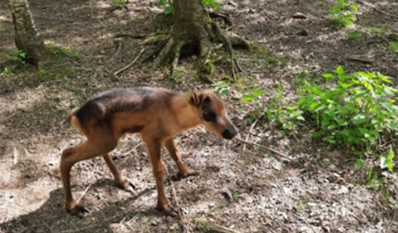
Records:
M162 162L162 158L160 157L160 149L162 143L160 140L153 140L148 138L144 139L144 141L148 147L149 160L151 162L152 173L155 178L156 189L158 191L157 208L163 211L166 215L175 217L178 214L170 205L164 190L165 166Z

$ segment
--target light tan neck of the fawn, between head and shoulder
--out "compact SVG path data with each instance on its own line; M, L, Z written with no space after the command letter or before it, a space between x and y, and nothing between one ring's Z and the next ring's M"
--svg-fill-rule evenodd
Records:
M188 102L184 94L175 96L172 102L172 109L183 130L200 124L200 118L196 108Z

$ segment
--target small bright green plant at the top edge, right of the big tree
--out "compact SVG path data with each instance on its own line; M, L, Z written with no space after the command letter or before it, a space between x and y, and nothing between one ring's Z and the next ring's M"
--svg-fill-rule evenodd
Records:
M355 2L348 0L337 0L336 4L329 7L331 20L336 24L338 29L353 24L357 20L354 15L357 11L358 7Z

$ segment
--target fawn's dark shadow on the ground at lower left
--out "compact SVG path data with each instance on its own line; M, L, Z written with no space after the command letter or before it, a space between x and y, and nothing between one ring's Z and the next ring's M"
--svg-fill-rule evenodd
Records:
M106 181L98 181L93 186L108 185ZM36 211L19 216L9 222L0 224L1 233L111 233L110 225L120 223L126 216L161 216L154 208L148 210L121 210L131 205L138 198L150 193L153 188L144 189L125 200L107 203L103 208L90 212L84 218L67 214L63 208L62 188L50 192L50 197ZM106 213L106 214L104 214Z

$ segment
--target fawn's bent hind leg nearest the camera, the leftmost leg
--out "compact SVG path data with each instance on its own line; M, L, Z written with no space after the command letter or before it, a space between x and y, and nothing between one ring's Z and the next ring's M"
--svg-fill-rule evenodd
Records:
M107 154L117 145L113 137L101 138L101 140L88 140L75 148L68 148L62 152L60 170L62 185L65 192L65 210L72 215L82 217L88 210L78 205L72 196L70 172L74 164L79 161L88 160L96 156Z

